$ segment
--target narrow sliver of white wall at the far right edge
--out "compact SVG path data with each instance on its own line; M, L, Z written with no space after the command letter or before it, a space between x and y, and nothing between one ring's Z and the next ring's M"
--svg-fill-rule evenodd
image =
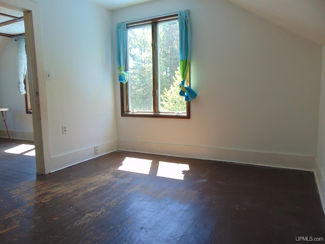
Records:
M323 209L325 209L325 46L322 47L317 159L315 176Z

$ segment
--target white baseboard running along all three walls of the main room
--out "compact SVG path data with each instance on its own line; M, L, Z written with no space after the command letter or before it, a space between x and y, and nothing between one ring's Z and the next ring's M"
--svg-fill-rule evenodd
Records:
M52 173L57 170L68 168L87 160L112 153L116 150L313 171L315 174L322 207L325 209L325 174L318 159L314 156L274 154L206 146L176 145L126 140L107 142L98 145L98 148L98 155L94 155L94 147L89 147L83 150L54 157L52 158L50 165L46 165L46 173Z

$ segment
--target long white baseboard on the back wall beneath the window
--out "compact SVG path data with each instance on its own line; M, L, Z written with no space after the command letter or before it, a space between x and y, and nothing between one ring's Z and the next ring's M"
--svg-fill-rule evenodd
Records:
M117 140L118 150L314 171L314 156L299 156L143 141Z

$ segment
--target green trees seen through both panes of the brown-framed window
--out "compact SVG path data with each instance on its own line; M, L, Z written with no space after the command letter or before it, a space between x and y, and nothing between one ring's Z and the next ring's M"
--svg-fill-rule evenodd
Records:
M160 111L186 111L179 96L178 22L158 24ZM129 103L131 110L153 111L151 26L128 30Z

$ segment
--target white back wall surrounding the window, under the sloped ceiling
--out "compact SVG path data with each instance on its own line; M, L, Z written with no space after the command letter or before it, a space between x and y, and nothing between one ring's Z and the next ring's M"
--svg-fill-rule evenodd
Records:
M225 0L157 0L113 11L113 25L184 9L191 118L121 117L115 79L118 148L313 169L321 47Z

